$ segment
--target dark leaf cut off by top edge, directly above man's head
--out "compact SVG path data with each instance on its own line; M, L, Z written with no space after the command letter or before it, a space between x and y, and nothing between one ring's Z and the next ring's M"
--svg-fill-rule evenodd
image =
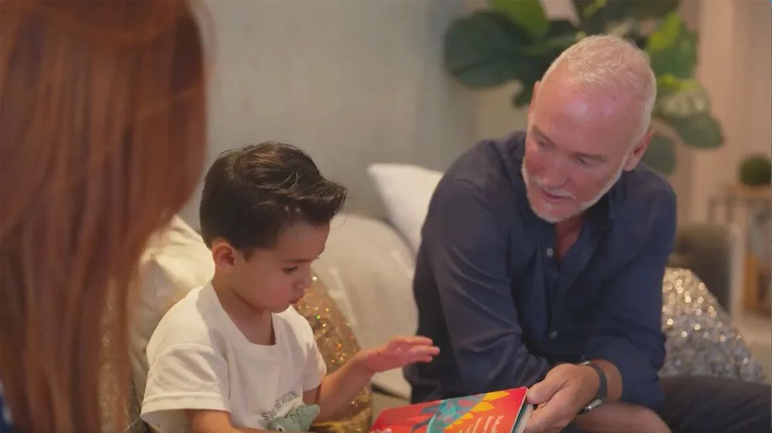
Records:
M662 17L678 4L679 0L574 0L579 28L589 35L604 33L609 25L628 18Z

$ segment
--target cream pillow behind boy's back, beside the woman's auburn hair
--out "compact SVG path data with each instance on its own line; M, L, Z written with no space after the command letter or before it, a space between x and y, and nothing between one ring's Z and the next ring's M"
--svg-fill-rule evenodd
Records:
M203 286L215 274L212 253L182 218L147 247L140 262L137 308L130 321L129 358L137 401L142 401L147 381L147 342L164 314L191 289Z

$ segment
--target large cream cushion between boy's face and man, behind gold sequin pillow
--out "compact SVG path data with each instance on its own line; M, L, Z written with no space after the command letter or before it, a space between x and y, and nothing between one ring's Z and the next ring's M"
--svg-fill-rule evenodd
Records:
M346 316L362 348L387 343L395 335L415 335L415 261L408 244L388 223L338 215L313 270ZM376 374L372 383L400 397L410 397L410 384L401 370Z

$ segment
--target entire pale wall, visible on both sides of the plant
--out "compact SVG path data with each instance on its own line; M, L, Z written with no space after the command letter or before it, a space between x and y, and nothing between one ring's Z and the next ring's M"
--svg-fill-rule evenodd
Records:
M208 164L232 147L283 140L308 151L350 188L350 211L381 215L367 164L442 169L476 140L526 126L516 84L469 90L442 66L452 19L486 0L206 0L214 29ZM571 0L543 0L571 18ZM684 0L699 30L697 75L726 134L713 151L678 149L670 177L679 221L702 221L707 201L750 153L770 152L769 4ZM193 225L198 195L182 215Z

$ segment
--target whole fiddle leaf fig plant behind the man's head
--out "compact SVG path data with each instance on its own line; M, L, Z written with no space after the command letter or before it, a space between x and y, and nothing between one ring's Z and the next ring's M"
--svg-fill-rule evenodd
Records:
M723 144L708 93L694 77L697 33L676 14L678 0L574 0L573 4L575 23L548 19L539 0L490 0L489 9L449 27L445 66L460 83L475 89L520 83L512 101L521 108L530 103L533 84L560 52L588 35L615 34L648 53L657 79L655 134L644 161L671 174L676 144L698 148Z

